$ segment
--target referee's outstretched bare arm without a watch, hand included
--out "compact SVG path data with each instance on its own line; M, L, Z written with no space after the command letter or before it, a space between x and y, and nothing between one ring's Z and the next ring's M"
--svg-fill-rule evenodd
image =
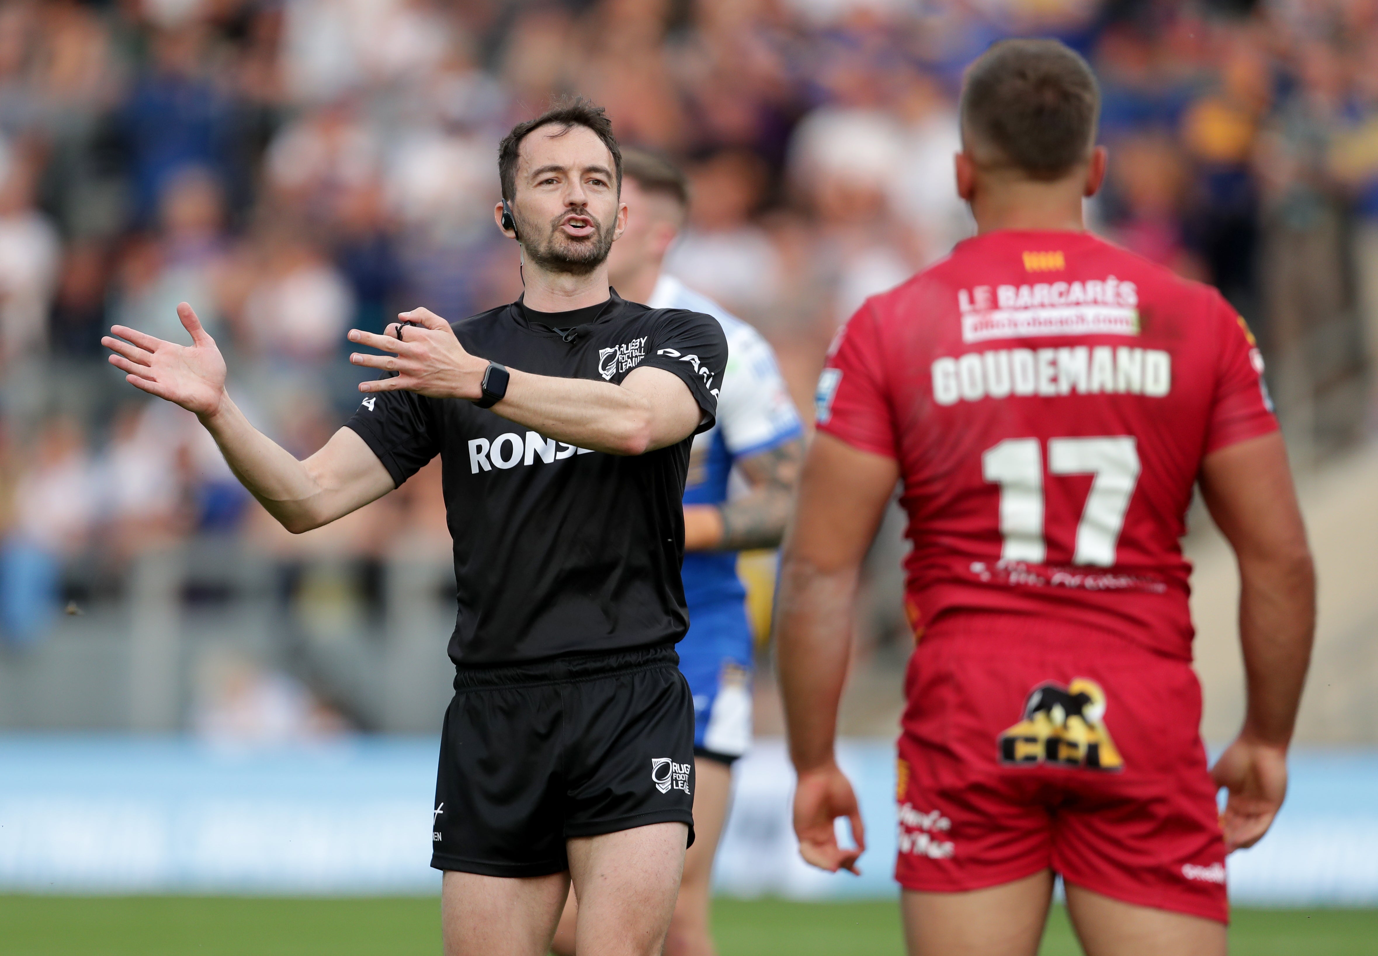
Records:
M340 428L311 457L296 460L258 431L225 391L225 358L185 302L178 306L190 346L116 325L101 343L125 380L193 412L230 470L292 533L329 523L393 490L393 479L364 439ZM116 337L117 336L117 337Z

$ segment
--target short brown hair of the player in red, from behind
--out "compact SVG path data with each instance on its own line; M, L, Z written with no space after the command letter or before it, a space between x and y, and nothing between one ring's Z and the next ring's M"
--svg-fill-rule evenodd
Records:
M1002 40L962 83L963 149L981 165L1060 179L1096 145L1101 91L1091 67L1058 40Z

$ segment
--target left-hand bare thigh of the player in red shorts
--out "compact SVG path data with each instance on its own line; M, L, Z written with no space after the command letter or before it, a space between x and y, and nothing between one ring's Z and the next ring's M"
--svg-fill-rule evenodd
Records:
M909 956L1036 956L1053 898L1053 873L965 893L905 890Z

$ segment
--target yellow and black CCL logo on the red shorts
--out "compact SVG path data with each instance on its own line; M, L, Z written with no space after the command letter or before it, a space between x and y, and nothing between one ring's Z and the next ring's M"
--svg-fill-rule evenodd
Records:
M1024 703L1024 719L1000 734L1000 763L1123 770L1104 720L1105 692L1094 680L1040 683Z

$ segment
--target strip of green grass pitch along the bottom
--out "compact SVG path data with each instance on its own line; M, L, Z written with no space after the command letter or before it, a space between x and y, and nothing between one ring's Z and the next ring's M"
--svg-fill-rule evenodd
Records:
M898 956L893 902L721 900L722 956ZM1243 909L1233 956L1370 956L1374 909ZM1043 956L1080 953L1057 908ZM411 956L440 953L434 898L0 897L0 956Z

